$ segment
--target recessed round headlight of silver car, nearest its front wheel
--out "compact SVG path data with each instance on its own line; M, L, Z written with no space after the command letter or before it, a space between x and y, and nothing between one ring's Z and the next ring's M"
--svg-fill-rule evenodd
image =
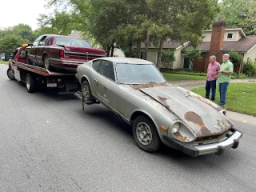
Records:
M193 142L197 138L182 121L174 121L170 123L168 137L176 138L181 142Z

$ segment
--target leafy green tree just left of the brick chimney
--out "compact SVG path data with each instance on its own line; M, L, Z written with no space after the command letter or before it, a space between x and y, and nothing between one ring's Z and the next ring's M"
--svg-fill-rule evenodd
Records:
M162 54L162 43L166 38L181 43L190 41L196 47L202 37L202 31L210 26L218 11L217 0L147 2L155 26L158 26L154 32L160 39L157 66Z

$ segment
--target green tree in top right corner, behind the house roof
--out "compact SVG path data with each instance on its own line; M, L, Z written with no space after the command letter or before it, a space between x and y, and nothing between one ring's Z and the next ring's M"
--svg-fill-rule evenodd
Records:
M219 6L227 27L241 27L246 35L256 34L255 0L223 0Z

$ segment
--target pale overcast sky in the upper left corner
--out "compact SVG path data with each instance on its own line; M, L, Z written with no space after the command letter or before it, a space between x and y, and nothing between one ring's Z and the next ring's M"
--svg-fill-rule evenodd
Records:
M1 0L0 29L23 23L36 30L39 14L50 13L45 4L46 0Z

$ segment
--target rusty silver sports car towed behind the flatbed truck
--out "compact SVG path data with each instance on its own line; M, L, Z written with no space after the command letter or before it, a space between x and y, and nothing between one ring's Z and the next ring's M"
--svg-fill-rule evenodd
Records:
M129 123L137 145L154 152L163 144L191 156L237 148L242 133L214 102L174 86L138 58L97 58L78 66L82 103L101 102Z

